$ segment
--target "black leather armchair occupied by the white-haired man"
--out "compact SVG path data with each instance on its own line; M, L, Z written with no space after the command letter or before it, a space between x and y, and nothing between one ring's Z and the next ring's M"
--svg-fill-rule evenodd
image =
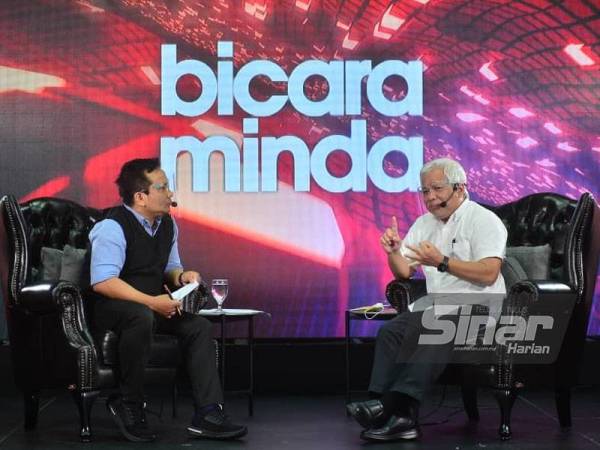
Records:
M561 304L572 311L562 347L553 363L561 427L571 426L571 387L577 380L594 296L600 254L600 209L591 194L579 201L558 194L533 194L500 206L487 206L508 229L508 246L550 244L550 279L523 280L509 288L505 306L531 314ZM394 280L388 301L399 311L426 293L424 280ZM525 369L499 346L494 364L449 365L443 377L458 380L465 412L479 419L477 387L492 388L500 407L501 439L511 437L510 415ZM458 374L458 376L457 376Z

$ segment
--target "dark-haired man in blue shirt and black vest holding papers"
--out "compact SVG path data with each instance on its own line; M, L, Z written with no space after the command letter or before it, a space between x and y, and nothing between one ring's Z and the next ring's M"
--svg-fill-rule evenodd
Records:
M98 331L114 331L119 340L121 395L107 404L113 419L130 441L156 438L143 410L144 368L156 331L175 335L184 352L195 407L189 434L214 439L245 435L246 427L233 424L221 407L210 322L181 313L180 302L164 293L165 283L180 287L200 281L200 275L184 270L179 260L178 229L169 215L173 192L158 159L125 163L116 183L123 205L90 232L94 325Z

